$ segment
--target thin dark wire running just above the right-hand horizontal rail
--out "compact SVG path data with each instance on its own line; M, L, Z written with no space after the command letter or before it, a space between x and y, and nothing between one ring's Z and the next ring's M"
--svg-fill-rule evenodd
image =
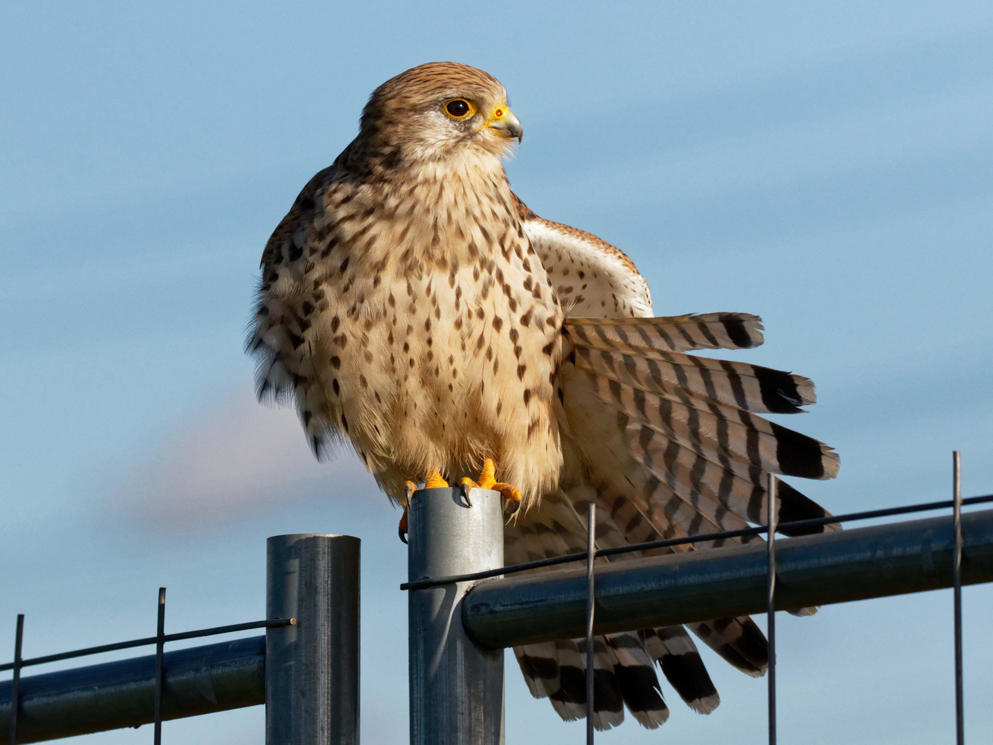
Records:
M969 497L962 500L962 506L973 504L985 504L993 502L993 494L984 494L980 497ZM953 500L942 502L923 502L922 504L909 505L907 507L888 507L882 510L866 510L864 512L850 512L846 515L828 515L822 518L811 518L810 520L794 520L791 523L780 523L777 531L785 533L788 530L802 528L816 528L824 525L835 525L837 523L847 523L853 520L871 520L872 518L883 518L891 515L909 515L915 512L927 512L929 510L947 510L954 505ZM670 538L664 541L649 541L644 544L631 544L630 546L619 546L615 549L601 549L597 552L597 557L614 557L619 554L631 554L637 551L650 551L652 549L665 549L670 546L683 546L685 544L695 544L701 541L720 541L728 538L744 538L746 536L761 536L767 533L765 526L756 528L742 528L737 531L724 531L723 533L706 533L699 536L685 536L683 538ZM524 563L501 566L497 569L487 571L476 571L471 574L454 574L437 578L425 577L413 582L404 582L400 585L401 590L422 590L429 587L438 587L443 584L454 584L455 582L472 582L478 579L489 579L501 574L515 574L518 571L528 569L540 569L545 566L555 566L560 563L571 563L573 561L585 561L586 553L567 554L551 559L538 559L537 561L525 561ZM3 670L0 668L0 670Z

